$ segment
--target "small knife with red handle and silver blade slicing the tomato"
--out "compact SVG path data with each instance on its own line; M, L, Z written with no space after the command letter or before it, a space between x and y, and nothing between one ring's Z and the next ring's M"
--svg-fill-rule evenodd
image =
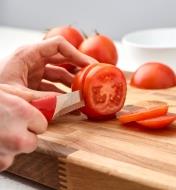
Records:
M80 91L36 99L31 104L41 111L48 122L85 105Z

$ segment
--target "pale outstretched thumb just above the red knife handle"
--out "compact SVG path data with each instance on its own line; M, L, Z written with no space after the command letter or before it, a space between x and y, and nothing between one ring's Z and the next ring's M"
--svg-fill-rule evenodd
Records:
M37 90L31 90L27 87L21 85L9 85L9 84L0 84L0 90L19 96L26 100L27 102L31 102L32 100L39 99L46 96L58 95L57 92L43 92Z

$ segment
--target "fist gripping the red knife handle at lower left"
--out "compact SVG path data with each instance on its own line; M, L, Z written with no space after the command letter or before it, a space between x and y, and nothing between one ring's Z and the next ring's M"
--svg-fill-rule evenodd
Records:
M0 91L0 171L7 169L14 157L37 147L37 134L47 128L44 116L20 97Z

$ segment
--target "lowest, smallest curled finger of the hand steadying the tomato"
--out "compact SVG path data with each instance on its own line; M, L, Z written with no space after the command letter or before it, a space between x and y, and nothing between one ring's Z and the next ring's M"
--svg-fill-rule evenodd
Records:
M65 91L59 89L54 84L51 84L51 83L46 82L46 81L42 81L40 83L39 90L42 90L42 91L53 91L53 92L58 92L58 93L62 93L62 94L65 93Z

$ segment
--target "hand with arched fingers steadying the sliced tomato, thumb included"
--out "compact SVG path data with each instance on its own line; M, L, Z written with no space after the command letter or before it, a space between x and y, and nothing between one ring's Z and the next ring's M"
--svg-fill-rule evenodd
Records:
M43 95L50 95L50 93L39 91L63 92L54 84L42 81L46 79L70 86L73 75L59 67L59 63L63 61L71 61L78 67L97 62L79 52L63 37L44 40L19 48L1 62L0 89L21 96L28 101Z

